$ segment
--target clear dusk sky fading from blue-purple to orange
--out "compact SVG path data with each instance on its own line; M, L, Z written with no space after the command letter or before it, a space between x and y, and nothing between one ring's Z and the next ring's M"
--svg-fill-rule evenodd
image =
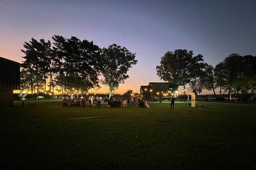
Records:
M213 66L231 53L255 56L255 9L256 0L0 0L0 56L21 62L24 41L54 34L99 47L116 43L138 60L118 91L136 92L150 81L162 82L155 68L168 50L193 50Z

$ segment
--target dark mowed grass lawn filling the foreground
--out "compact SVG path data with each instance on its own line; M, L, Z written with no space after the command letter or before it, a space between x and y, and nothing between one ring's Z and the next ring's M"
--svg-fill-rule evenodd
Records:
M0 169L256 169L255 106L149 104L2 108Z

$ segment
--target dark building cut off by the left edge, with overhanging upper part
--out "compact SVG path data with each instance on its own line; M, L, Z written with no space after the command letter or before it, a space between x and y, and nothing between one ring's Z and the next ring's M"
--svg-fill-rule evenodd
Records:
M20 90L20 63L0 57L0 107L13 106L13 90Z

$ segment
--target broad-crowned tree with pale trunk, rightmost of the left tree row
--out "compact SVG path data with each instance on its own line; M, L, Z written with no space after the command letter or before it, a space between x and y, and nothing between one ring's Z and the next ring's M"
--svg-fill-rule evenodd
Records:
M138 62L135 60L135 56L136 53L131 53L126 47L117 44L100 50L97 67L103 77L101 83L108 86L110 96L113 95L113 90L118 88L119 84L129 78L128 70Z

